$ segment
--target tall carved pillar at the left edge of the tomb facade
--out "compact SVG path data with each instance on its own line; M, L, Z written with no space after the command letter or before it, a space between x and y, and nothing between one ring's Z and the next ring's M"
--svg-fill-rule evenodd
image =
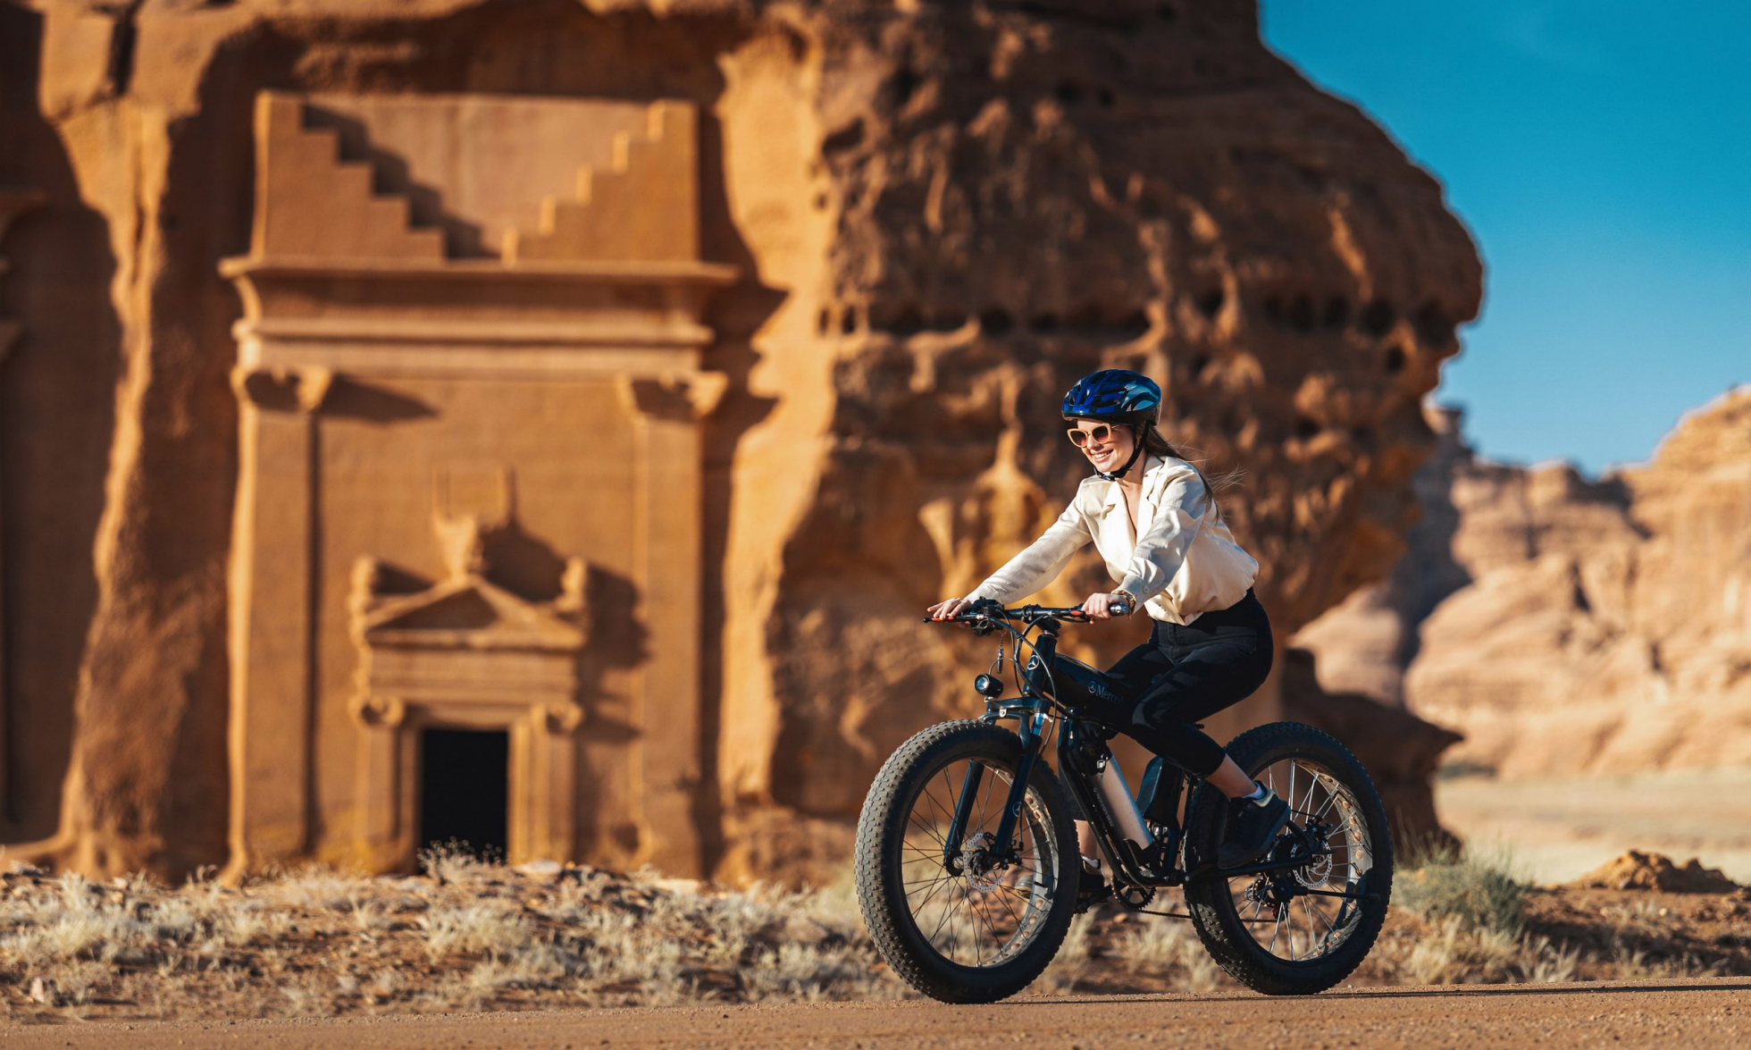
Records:
M306 852L315 598L315 414L324 368L238 368L231 543L231 866Z

